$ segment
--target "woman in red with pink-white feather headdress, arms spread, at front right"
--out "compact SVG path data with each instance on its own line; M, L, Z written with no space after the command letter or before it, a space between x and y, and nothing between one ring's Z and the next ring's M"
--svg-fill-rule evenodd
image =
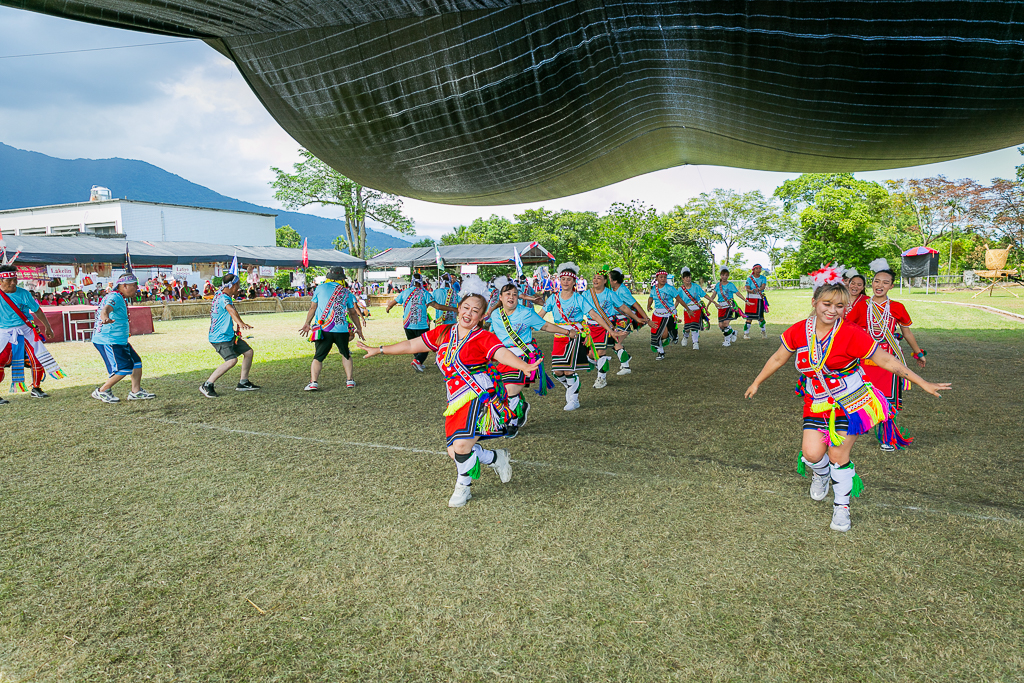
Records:
M887 420L892 411L885 396L864 381L861 364L870 358L879 367L913 382L935 396L949 384L927 382L884 351L856 325L844 322L850 292L842 273L826 267L811 273L816 289L813 313L782 334L782 345L746 389L753 398L761 384L797 356L804 394L804 435L797 471L813 472L811 498L822 501L833 484L836 500L831 528L850 528L850 496L857 497L863 482L857 476L850 451L857 436Z

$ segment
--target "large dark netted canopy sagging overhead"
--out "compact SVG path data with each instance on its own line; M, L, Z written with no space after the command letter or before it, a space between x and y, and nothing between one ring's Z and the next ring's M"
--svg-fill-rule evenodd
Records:
M206 40L317 157L434 202L679 164L895 168L1024 140L998 0L0 0Z

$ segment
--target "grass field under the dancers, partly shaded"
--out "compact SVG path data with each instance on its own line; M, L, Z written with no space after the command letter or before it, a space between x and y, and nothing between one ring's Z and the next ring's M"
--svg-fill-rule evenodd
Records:
M807 293L771 301L777 339ZM68 380L0 409L0 681L1024 681L1024 324L909 309L954 389L908 395L911 449L854 449L845 535L795 473L794 373L742 399L772 338L633 335L634 374L537 397L461 510L436 370L346 390L332 358L303 393L301 313L250 317L264 389L216 401L206 321L133 339L147 402L54 345Z

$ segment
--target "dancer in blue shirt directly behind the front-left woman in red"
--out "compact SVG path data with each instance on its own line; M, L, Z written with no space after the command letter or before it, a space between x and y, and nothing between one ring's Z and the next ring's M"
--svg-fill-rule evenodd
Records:
M506 348L526 362L532 364L544 357L534 339L535 330L543 330L556 335L565 334L562 328L548 323L532 308L519 303L520 293L515 283L503 283L498 297L501 305L490 313L490 332L502 340ZM570 336L577 334L574 331L569 333ZM550 382L550 380L541 374L543 368L534 371L528 376L509 366L499 366L498 370L502 374L502 382L508 392L509 408L515 414L515 418L509 424L505 435L508 438L515 438L519 429L526 425L526 417L529 413L529 403L522 399L519 394L535 381L541 383L542 391L546 393L545 382Z

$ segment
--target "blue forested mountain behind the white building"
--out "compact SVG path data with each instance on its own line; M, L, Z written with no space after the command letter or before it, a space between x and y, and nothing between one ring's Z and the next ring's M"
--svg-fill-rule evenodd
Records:
M278 227L291 225L299 234L309 238L310 249L331 249L331 242L345 233L343 221L232 200L142 161L56 159L0 142L0 210L85 202L93 185L110 187L115 197L140 202L275 213ZM409 245L406 240L367 230L368 247L387 249Z

